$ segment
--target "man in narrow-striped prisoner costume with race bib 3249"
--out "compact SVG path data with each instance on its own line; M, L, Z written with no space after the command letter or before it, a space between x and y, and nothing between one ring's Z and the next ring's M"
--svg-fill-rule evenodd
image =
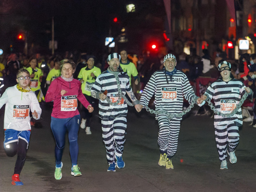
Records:
M203 100L195 95L187 76L175 68L176 64L173 54L165 55L164 69L156 71L149 79L140 98L140 108L148 105L154 93L156 110L172 114L182 112L183 96L190 103L193 98L197 98L197 103L202 103ZM156 115L159 124L157 142L161 153L158 164L166 169L173 169L171 158L177 151L181 118L169 119L165 114Z

